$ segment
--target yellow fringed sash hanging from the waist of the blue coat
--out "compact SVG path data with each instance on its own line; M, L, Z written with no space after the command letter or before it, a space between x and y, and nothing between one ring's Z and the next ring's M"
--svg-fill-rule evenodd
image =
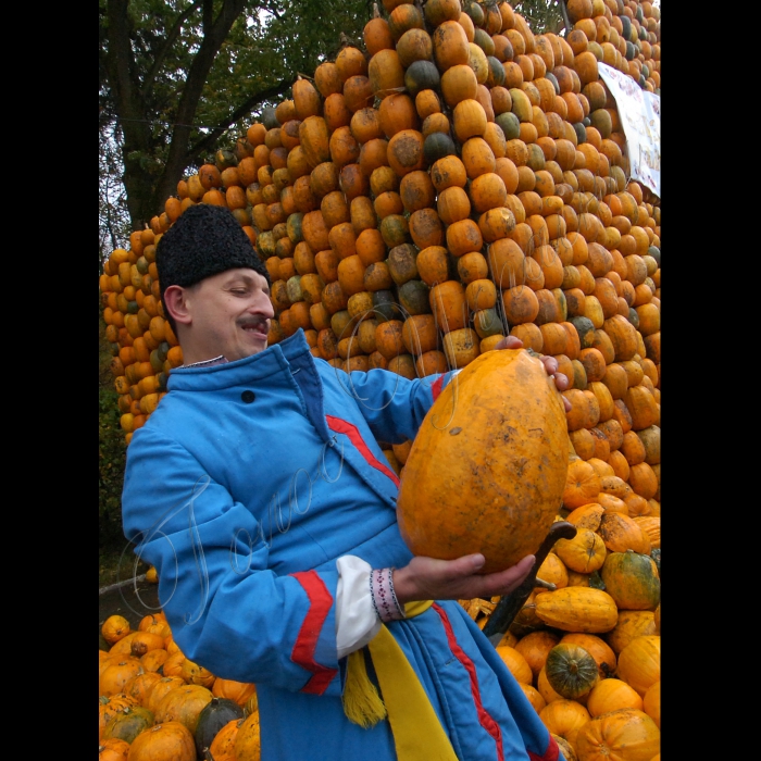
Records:
M408 602L404 613L411 619L432 604L431 600ZM383 698L367 677L362 650L350 653L342 698L349 721L366 728L387 718L399 761L457 761L417 674L385 625L367 649Z

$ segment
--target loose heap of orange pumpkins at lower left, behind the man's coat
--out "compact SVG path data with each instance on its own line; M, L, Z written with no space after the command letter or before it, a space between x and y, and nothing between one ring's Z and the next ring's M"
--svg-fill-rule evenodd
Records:
M135 632L111 615L101 633L100 761L259 761L254 685L185 658L161 612Z

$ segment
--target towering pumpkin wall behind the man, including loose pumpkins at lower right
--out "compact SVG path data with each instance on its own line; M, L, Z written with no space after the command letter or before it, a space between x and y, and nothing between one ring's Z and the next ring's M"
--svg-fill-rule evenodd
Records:
M506 335L554 357L572 403L558 516L579 531L539 574L556 589L537 589L502 647L527 663L519 682L566 758L596 758L620 736L641 746L621 758L649 759L660 741L660 199L629 177L598 64L660 93L660 9L565 10L560 36L534 34L508 2L384 0L362 49L298 79L233 150L178 183L113 251L100 290L127 441L183 362L154 259L194 203L228 207L264 260L270 344L303 328L336 367L406 377L464 367ZM380 444L401 472L411 442ZM495 603L463 601L479 625Z

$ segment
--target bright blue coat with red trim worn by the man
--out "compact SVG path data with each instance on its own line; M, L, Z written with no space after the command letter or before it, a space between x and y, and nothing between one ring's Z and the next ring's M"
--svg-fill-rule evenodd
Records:
M174 370L134 434L125 535L158 570L183 652L255 683L263 761L396 758L386 721L363 729L344 714L336 560L411 559L396 522L398 478L376 439L413 438L449 378L347 375L315 360L299 332L247 359ZM462 761L559 758L458 602L388 627Z

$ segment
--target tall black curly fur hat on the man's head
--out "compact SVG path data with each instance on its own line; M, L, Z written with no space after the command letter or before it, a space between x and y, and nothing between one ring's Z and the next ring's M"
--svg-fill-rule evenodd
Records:
M161 236L155 250L161 300L172 285L188 287L227 270L246 267L272 285L264 262L229 209L197 203Z

